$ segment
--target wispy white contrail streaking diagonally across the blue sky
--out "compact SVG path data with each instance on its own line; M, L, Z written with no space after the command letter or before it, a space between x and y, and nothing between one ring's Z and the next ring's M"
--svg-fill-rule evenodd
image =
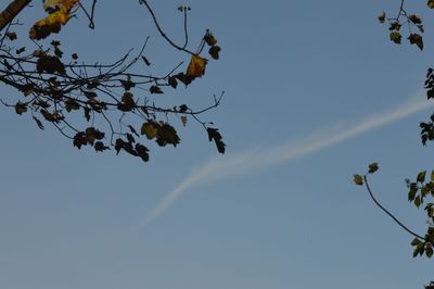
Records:
M420 96L421 93L417 95ZM419 97L419 99L421 98ZM187 190L222 178L245 175L253 171L265 169L291 162L296 158L320 151L363 133L397 122L431 106L432 103L426 102L426 100L414 101L414 98L411 98L406 103L388 112L371 115L355 125L337 131L322 133L321 135L307 137L296 142L291 141L272 148L250 149L244 152L210 160L208 163L192 169L184 180L178 184L178 186L168 192L166 197L148 213L140 227L146 226L159 217Z

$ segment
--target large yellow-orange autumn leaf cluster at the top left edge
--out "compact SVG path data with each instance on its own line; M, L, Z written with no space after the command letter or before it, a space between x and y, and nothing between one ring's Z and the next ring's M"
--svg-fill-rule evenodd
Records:
M48 1L44 9L50 13L46 18L38 21L30 28L30 39L40 40L47 38L52 33L59 33L72 17L71 10L78 4L79 0L58 0ZM51 5L52 4L52 5Z

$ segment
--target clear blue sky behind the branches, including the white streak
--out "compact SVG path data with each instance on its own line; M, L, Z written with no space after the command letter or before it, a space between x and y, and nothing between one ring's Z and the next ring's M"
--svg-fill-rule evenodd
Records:
M43 15L34 2L18 17L24 33ZM150 144L149 163L97 154L1 108L0 288L407 289L433 279L433 261L413 259L411 236L353 183L378 162L375 196L424 233L405 179L433 168L419 130L433 109L429 21L420 52L393 45L376 21L399 1L149 2L175 40L177 8L191 7L192 50L206 28L218 39L221 59L205 76L158 101L201 108L225 91L203 117L227 153L189 120L177 148ZM408 10L430 20L424 4ZM50 40L103 62L150 36L156 72L188 61L138 1L98 1L95 29L87 25L78 12Z

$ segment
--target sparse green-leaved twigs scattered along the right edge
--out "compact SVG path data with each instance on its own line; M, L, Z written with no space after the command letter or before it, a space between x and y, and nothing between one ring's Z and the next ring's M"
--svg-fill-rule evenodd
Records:
M401 26L408 28L407 39L410 45L416 45L421 51L424 48L423 34L425 32L422 24L422 18L416 13L408 13L405 7L405 0L400 0L399 11L397 16L387 17L386 12L382 12L378 20L381 23L388 24L390 39L391 41L400 45L403 35ZM426 5L430 9L434 9L434 0L427 0ZM429 101L434 99L434 74L433 68L429 68L426 73L426 79L424 88L426 89L426 98ZM421 122L421 141L423 146L426 146L429 141L434 140L434 113L430 116L430 121ZM413 247L413 257L422 256L423 254L431 259L434 255L434 169L429 174L427 171L421 171L416 175L414 180L406 179L408 188L408 201L413 203L417 209L423 208L426 213L427 228L424 235L419 235L414 230L406 227L398 218L386 210L373 196L373 192L369 186L368 177L370 174L375 173L379 169L376 163L372 163L368 167L368 172L363 175L355 174L353 181L358 186L365 186L371 197L372 201L394 222L400 226L404 230L410 234L413 239L411 246ZM434 289L434 281L425 286L425 289Z

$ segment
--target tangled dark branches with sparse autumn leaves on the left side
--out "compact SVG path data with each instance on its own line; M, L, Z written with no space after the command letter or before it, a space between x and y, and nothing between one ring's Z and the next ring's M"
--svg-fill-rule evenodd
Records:
M86 63L74 51L64 53L61 41L50 39L62 33L62 27L76 15L84 15L93 29L97 0L46 0L43 7L37 1L31 9L43 9L47 17L33 24L28 35L23 37L14 32L14 27L23 23L14 18L30 2L11 0L0 13L0 81L21 95L15 103L1 100L5 106L13 108L18 115L30 114L40 129L44 129L44 123L52 124L78 149L87 146L97 152L114 149L116 153L125 151L144 162L149 161L149 149L143 140L153 140L159 147L176 147L180 138L171 122L178 120L186 126L190 117L204 127L217 150L225 152L226 144L218 129L213 123L200 118L201 114L219 105L224 93L215 96L213 103L201 110L193 110L184 103L156 104L156 96L173 93L179 84L187 87L205 74L208 60L203 51L206 47L212 59L219 59L221 48L208 29L200 39L197 50L189 49L187 23L190 8L178 8L183 17L184 33L183 43L178 45L162 29L149 1L138 2L149 13L166 43L189 56L187 67L180 62L167 74L155 76L132 73L138 63L151 65L144 55L149 38L137 53L133 54L131 49L118 60L105 64L99 60L94 64ZM26 38L31 41L25 41ZM72 117L72 114L81 117Z

